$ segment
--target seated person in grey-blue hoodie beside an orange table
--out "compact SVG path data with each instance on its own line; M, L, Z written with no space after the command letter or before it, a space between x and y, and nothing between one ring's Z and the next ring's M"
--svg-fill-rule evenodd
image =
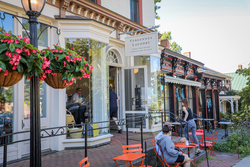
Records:
M184 167L190 167L190 158L187 154L183 154L181 151L175 149L174 143L171 140L172 125L171 123L165 124L163 129L163 135L161 135L156 143L161 146L163 158L167 163L180 162Z

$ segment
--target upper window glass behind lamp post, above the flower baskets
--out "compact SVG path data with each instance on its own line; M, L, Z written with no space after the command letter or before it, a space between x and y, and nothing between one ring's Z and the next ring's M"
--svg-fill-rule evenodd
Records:
M23 22L25 29L29 33L29 31L30 31L29 20L22 19L22 22ZM38 23L37 24L37 35L39 35L46 27L47 27L47 25L42 24L42 23ZM24 29L22 31L22 36L23 36L23 38L29 38ZM39 37L38 46L40 46L40 47L47 47L48 46L48 29L44 30L43 33L41 34L41 36Z

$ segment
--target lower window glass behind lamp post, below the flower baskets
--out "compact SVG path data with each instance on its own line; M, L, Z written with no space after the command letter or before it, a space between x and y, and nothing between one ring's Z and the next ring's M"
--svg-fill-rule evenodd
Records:
M46 117L46 83L39 82L40 117ZM30 118L30 80L24 81L24 119Z

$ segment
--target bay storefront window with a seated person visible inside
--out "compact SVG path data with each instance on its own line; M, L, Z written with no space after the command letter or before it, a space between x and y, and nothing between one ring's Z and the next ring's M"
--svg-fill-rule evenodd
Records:
M75 84L66 89L66 108L69 111L67 118L72 114L77 124L109 120L106 44L90 39L66 39L66 48L74 48L94 67L90 79L77 79ZM91 124L90 129L107 126L107 123ZM93 131L88 136L107 134L108 130L105 128Z

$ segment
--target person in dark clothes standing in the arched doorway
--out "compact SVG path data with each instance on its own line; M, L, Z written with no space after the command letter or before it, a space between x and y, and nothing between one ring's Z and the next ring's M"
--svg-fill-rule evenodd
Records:
M110 118L113 120L117 120L117 110L118 110L118 98L117 94L112 91L113 85L109 85L109 109L110 109ZM115 121L116 125L118 126L118 121ZM122 133L122 129L118 126L118 133Z

